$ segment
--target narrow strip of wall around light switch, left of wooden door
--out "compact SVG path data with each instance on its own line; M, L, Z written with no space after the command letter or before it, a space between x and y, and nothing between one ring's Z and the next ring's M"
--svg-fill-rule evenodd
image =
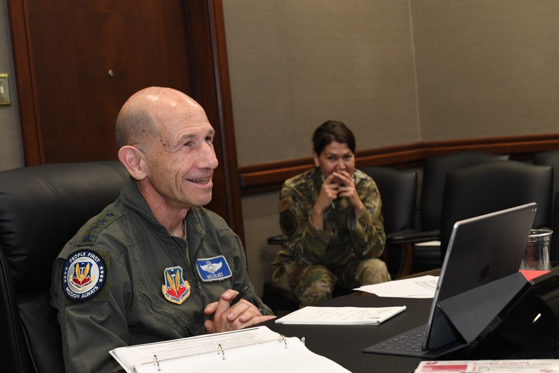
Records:
M13 72L12 44L6 1L0 1L0 74L8 74L11 105L0 105L0 170L21 167L23 145L21 143L20 114L17 106L16 79Z

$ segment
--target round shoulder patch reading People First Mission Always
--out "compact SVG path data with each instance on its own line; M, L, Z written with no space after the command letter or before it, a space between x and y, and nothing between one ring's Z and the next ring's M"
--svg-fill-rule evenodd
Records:
M107 274L101 255L93 250L79 250L70 254L62 269L64 295L80 302L96 295L105 282Z

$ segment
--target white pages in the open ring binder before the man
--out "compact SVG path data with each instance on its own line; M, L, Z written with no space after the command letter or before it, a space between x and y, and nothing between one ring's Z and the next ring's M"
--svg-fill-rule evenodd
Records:
M302 366L306 372L349 372L338 363L309 351L299 338L285 338L284 341L280 334L267 327L120 347L110 353L128 373L206 370L283 373L297 371ZM154 364L154 355L159 370L157 363Z

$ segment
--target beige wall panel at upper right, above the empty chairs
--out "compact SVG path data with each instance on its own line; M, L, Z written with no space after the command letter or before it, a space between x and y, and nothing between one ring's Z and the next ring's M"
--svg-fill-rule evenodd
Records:
M559 1L411 10L422 141L559 132Z

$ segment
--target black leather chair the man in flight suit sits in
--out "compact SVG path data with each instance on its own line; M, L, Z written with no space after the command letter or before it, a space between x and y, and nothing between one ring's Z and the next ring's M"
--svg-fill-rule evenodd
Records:
M115 201L127 177L117 161L0 172L2 371L64 371L60 326L50 305L53 262L89 218Z

